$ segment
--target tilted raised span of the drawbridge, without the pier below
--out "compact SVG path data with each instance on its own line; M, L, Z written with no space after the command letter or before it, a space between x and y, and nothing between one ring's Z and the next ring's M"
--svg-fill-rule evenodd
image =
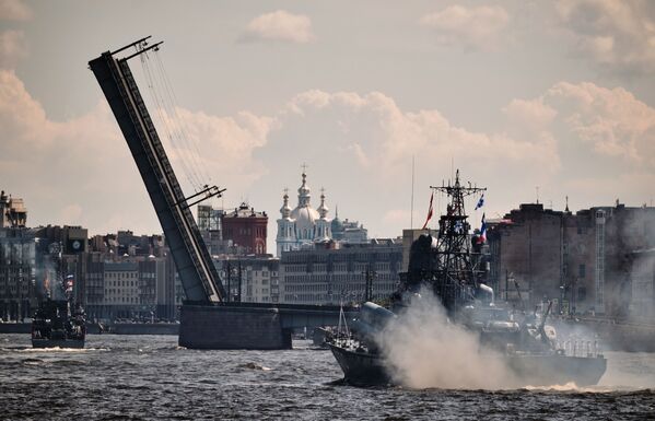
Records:
M200 236L200 231L189 210L190 204L182 191L128 65L129 59L159 48L161 43L145 46L147 39L140 39L115 51L103 52L98 58L91 60L89 66L112 107L141 173L187 300L218 303L225 295L219 273ZM137 51L127 57L118 57L120 52L131 47ZM220 194L218 187L207 188L206 191L214 196L217 192ZM196 196L198 194L188 199Z

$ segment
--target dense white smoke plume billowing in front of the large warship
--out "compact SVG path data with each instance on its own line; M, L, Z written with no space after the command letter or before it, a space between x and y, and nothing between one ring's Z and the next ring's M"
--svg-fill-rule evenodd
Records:
M394 381L412 388L500 389L516 385L500 355L478 336L448 321L430 294L414 300L379 335Z

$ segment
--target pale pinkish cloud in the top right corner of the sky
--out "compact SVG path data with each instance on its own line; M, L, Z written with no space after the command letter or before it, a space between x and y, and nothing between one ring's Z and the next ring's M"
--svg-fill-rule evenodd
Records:
M652 1L560 0L557 12L577 52L611 71L655 72Z

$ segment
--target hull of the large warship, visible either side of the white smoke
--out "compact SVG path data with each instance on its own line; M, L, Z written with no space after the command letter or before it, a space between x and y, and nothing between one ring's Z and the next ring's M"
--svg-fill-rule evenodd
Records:
M330 343L329 347L347 383L354 386L394 384L378 354L356 352L334 343ZM516 387L552 386L568 383L574 383L576 386L590 386L598 384L607 370L607 360L603 356L513 354L501 358L516 375Z

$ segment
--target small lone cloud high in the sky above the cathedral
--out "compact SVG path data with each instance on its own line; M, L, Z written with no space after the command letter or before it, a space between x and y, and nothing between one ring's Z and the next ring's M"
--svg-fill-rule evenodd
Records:
M305 44L314 39L312 20L284 10L262 14L248 23L243 42L284 42Z

